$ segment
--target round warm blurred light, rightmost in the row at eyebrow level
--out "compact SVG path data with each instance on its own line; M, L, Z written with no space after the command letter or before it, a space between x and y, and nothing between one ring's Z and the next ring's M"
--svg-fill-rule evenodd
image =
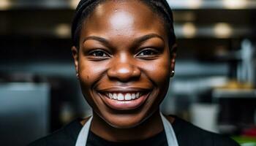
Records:
M227 38L232 34L232 28L227 23L217 23L214 26L214 34L219 38Z

